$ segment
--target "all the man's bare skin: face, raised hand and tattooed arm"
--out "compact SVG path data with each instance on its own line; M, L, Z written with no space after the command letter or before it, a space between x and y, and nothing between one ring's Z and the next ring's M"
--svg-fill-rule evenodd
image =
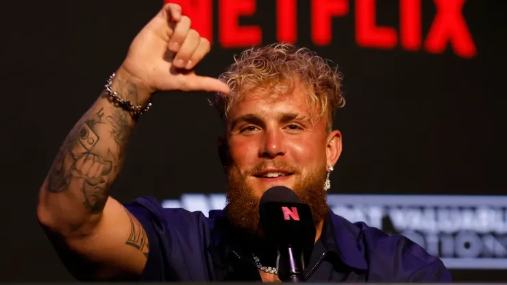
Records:
M144 106L158 90L229 94L223 82L193 72L210 51L210 42L190 27L180 5L164 5L134 38L116 71L112 90L117 96ZM290 100L262 99L259 94L234 106L233 119L255 114L260 120L256 125L249 122L252 132L240 132L238 124L230 125L224 143L229 146L232 167L248 171L260 158L267 158L284 160L305 173L336 163L341 135L329 131L327 119L315 124L299 118L280 121L280 112L310 117L312 110L299 97L297 92ZM136 123L136 116L115 106L103 92L65 138L40 188L38 221L80 280L135 280L145 267L149 255L146 232L134 215L110 197ZM279 185L290 187L293 179ZM272 184L253 177L249 183L259 197ZM274 275L261 275L263 280L275 280Z

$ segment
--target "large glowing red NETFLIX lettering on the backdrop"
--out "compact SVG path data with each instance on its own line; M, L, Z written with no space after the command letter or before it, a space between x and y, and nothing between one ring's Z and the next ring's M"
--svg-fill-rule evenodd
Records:
M182 5L201 36L213 40L213 0L164 0ZM276 31L279 42L297 41L297 0L276 1ZM350 0L352 1L352 0ZM376 21L375 0L355 0L356 43L360 47L393 49L400 45L408 51L421 49L443 53L451 45L462 58L477 54L467 22L462 14L465 0L434 0L436 15L428 34L421 32L421 0L399 0L399 31L380 27ZM251 47L262 42L258 25L240 26L240 16L256 13L256 0L219 0L219 45L224 48ZM316 46L330 45L332 18L349 14L349 0L310 0L311 38ZM399 41L399 42L398 42Z

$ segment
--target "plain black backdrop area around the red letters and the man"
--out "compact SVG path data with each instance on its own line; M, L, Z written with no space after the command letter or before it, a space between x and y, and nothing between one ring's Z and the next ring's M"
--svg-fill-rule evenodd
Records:
M298 1L297 45L337 62L345 75L347 106L335 119L344 152L332 175L332 192L505 195L505 1L465 3L462 14L476 49L471 58L457 55L451 45L443 53L425 51L435 3L442 1L421 1L418 51L407 51L399 40L392 48L360 45L356 7L368 0L336 1L348 4L348 13L333 18L329 45L316 46L313 1ZM219 19L218 2L212 1L212 52L198 69L213 76L243 50L221 47L219 25L225 20ZM256 12L240 18L240 25L258 25L262 44L275 42L275 1L252 2ZM377 25L399 30L401 1L377 2ZM3 3L1 281L73 280L38 227L38 189L67 132L161 5L162 0ZM153 98L114 197L127 202L139 195L162 200L223 193L216 153L220 124L207 96ZM454 279L506 281L507 274L462 270L454 271Z

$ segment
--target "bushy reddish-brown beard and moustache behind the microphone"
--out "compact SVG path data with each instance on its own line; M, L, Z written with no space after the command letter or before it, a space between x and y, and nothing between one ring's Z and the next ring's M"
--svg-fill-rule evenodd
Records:
M229 169L227 171L227 181L229 184L227 207L225 208L227 218L233 225L251 234L258 232L260 197L256 197L253 188L247 184L247 178L251 177L253 173L262 171L267 166L284 169L290 173L294 173L293 175L301 173L301 170L286 164L286 162L277 161L273 164L273 162L268 162L267 160L260 162L251 171L247 171L243 175L237 169ZM299 199L301 199L302 203L310 206L315 225L323 221L329 211L327 207L327 194L324 190L326 175L325 167L314 169L314 171L307 175L301 176L292 189Z

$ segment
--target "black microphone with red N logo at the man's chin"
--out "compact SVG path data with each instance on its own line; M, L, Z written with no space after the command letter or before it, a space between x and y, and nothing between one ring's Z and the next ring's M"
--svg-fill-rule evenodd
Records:
M262 236L278 250L278 277L282 281L303 281L316 232L310 206L301 203L293 190L275 186L262 195L259 215Z

